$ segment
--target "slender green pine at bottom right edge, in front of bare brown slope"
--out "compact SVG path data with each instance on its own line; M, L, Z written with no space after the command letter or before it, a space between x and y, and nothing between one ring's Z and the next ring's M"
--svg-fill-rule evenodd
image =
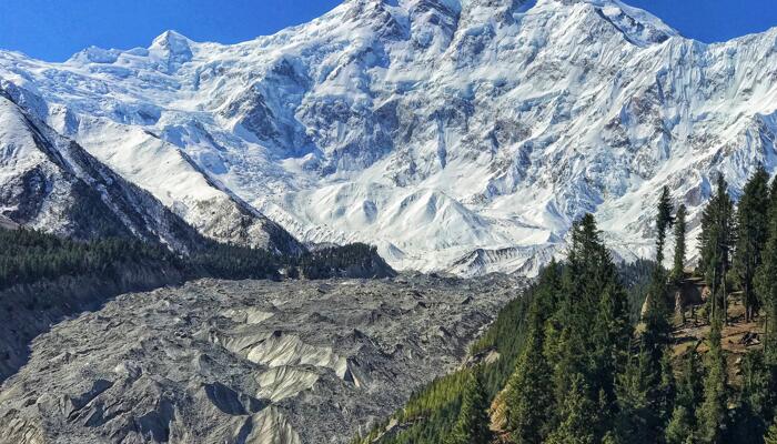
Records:
M720 345L720 321L709 331L709 351L705 356L704 401L697 412L699 441L720 443L727 426L726 359Z

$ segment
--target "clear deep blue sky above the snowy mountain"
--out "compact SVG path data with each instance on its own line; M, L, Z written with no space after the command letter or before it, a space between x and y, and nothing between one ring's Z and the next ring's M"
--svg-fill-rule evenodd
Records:
M89 47L147 47L167 29L234 43L311 20L341 0L0 0L0 48L61 61ZM626 0L684 36L728 40L777 26L777 0Z

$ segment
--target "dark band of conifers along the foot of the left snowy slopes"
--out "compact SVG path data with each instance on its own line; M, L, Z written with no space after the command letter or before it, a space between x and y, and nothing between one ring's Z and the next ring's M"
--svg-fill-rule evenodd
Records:
M0 290L62 276L120 279L129 265L163 265L184 279L280 279L281 271L306 279L347 276L353 270L369 270L377 278L394 273L374 246L359 243L283 256L202 239L193 251L176 254L131 238L79 242L36 230L0 229Z

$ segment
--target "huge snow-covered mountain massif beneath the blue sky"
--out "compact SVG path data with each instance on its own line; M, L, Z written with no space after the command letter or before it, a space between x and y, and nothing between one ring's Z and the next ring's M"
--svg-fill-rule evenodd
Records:
M774 171L776 48L616 0L349 0L233 46L0 52L0 88L206 234L250 209L400 269L531 274L585 212L648 255L659 186L696 226L716 172Z

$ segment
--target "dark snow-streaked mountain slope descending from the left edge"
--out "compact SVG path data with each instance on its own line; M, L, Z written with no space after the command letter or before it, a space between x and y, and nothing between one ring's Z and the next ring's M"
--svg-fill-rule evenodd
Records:
M134 236L189 251L196 232L0 94L4 218L74 239Z

